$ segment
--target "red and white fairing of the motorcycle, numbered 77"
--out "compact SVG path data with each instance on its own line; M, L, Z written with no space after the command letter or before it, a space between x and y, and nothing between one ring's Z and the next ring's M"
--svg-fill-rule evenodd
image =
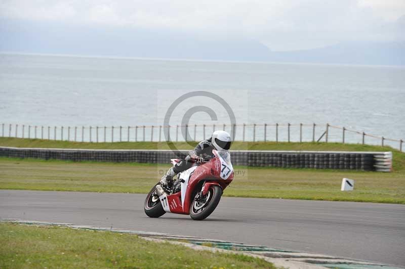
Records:
M204 181L201 191L206 195L211 185L218 185L224 190L233 180L233 167L228 151L213 150L215 155L209 162L192 166L179 173L181 191L172 195L161 195L160 203L166 212L177 214L189 214L191 204L191 194L199 182ZM171 160L173 165L179 159Z

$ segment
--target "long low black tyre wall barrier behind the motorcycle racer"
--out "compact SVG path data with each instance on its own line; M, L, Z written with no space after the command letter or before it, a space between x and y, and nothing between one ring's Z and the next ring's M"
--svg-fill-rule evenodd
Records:
M182 151L183 157L187 151ZM0 156L71 161L170 163L170 150L85 150L0 147ZM392 152L231 151L233 165L392 171Z

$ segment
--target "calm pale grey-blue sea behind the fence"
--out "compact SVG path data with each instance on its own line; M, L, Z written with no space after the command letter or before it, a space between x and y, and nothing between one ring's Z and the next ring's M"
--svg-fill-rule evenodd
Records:
M235 124L236 140L288 141L290 124L290 141L312 141L330 124L329 141L342 141L337 127L349 130L348 143L361 143L362 132L405 140L403 66L3 53L0 96L2 136L15 136L16 124L18 137L23 135L22 125L28 137L31 125L31 132L37 126L37 137L46 138L50 126L50 139L55 126L59 135L61 126L65 132L76 126L79 140L82 127L86 132L92 126L93 131L100 128L97 139L102 141L106 126L108 141L111 136L118 139L122 126L121 140L157 141L165 138L165 128L158 126L169 124L166 130L172 140L184 140L185 131L188 140L202 140L223 124L228 131ZM181 127L185 124L187 130ZM41 126L45 134L40 135ZM90 140L89 133L83 137ZM93 141L95 137L92 134ZM324 135L320 141L325 139ZM380 145L381 139L366 136L366 143Z

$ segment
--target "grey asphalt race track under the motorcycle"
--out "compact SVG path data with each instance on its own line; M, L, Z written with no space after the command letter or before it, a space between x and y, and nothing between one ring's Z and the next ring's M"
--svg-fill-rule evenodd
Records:
M405 205L223 197L209 218L194 221L169 213L147 217L145 196L0 190L0 217L196 236L405 265Z

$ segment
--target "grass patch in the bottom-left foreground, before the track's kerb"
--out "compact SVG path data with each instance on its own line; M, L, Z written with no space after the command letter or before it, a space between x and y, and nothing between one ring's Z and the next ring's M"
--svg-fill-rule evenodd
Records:
M275 268L241 254L61 227L0 223L0 242L0 268Z

